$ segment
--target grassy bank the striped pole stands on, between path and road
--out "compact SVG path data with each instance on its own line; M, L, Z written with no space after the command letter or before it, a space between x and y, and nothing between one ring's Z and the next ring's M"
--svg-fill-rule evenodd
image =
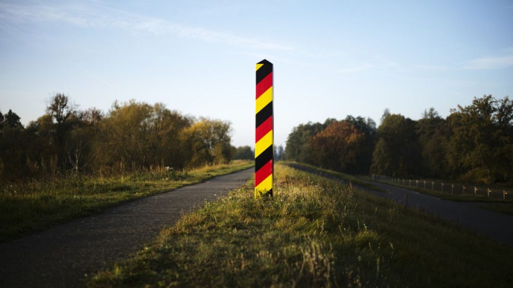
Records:
M184 215L90 279L110 286L507 287L513 250L384 198L277 164L274 198L252 181Z

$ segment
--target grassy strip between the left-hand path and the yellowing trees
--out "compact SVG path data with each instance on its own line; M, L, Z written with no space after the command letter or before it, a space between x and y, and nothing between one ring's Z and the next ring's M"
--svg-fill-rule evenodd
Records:
M190 171L156 168L124 176L70 176L51 181L0 186L0 241L57 222L101 212L116 203L169 191L253 166L252 161L205 166Z

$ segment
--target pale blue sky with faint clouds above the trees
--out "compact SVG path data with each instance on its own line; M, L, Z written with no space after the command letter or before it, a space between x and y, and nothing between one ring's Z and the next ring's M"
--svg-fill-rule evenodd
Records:
M513 1L0 0L0 111L24 124L57 92L81 109L136 99L228 120L252 146L263 58L277 144L328 117L445 117L513 96Z

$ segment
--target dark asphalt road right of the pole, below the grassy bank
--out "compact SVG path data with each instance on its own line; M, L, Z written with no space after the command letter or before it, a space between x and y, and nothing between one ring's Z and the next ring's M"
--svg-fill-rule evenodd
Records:
M344 181L332 175L295 164L290 164L290 166L295 169ZM500 243L513 245L513 216L480 208L480 206L485 203L448 201L380 182L369 181L369 183L381 188L386 191L386 193L374 191L366 187L358 187L354 183L353 186L374 195L387 197L401 203L405 202L406 195L406 205L408 207L421 209L435 217L456 222L464 228L488 236Z

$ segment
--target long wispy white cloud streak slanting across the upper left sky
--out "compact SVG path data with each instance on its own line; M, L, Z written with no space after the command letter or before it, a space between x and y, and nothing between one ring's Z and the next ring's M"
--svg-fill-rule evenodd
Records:
M230 46L258 47L259 49L277 51L293 50L291 46L275 44L266 39L248 38L202 27L170 23L166 19L136 15L110 9L106 6L90 8L82 5L0 4L0 19L11 23L29 21L64 22L77 27L108 27L154 35L171 34L177 37L195 39L202 42L224 43Z

